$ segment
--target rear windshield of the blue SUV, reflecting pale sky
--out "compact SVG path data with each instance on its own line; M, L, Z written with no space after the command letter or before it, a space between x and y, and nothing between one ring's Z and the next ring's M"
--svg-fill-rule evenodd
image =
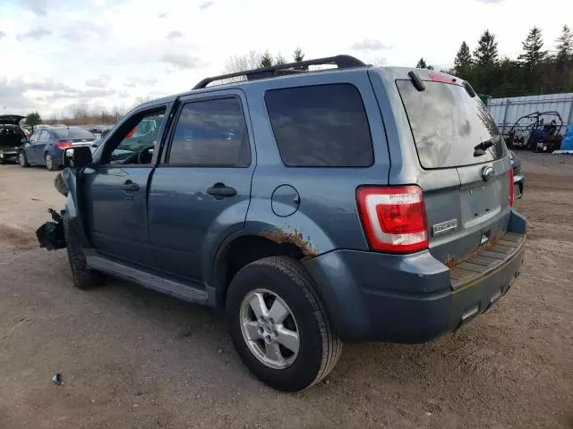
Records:
M458 85L424 84L418 91L410 80L396 81L423 168L480 164L503 156L500 130L479 97ZM488 141L492 147L475 156L475 147Z

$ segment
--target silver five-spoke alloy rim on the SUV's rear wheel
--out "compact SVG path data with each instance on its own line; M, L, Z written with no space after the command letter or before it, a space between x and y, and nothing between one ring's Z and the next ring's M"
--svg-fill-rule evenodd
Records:
M265 366L293 365L300 347L295 315L277 293L256 289L247 293L239 313L241 332L249 350Z

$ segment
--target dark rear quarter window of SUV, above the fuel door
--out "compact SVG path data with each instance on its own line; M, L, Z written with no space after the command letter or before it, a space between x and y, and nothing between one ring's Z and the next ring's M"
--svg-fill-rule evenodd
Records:
M284 164L292 167L368 167L371 131L354 85L271 89L269 120Z

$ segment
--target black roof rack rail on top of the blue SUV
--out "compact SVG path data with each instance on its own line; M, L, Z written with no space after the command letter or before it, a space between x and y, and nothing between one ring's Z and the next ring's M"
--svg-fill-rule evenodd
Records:
M238 78L246 76L247 80L267 79L282 74L295 74L305 72L302 68L308 68L309 65L327 65L336 64L339 69L349 69L352 67L364 67L366 64L351 55L336 55L328 56L326 58L317 58L315 60L299 61L298 63L286 63L271 65L270 67L263 67L261 69L237 71L235 73L221 74L220 76L213 76L201 80L193 89L201 89L207 87L211 82L216 80L224 80L230 78ZM291 69L291 70L289 70Z

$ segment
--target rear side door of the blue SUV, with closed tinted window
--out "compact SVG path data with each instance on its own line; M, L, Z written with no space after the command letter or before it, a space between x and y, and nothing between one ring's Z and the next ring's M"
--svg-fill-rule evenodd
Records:
M241 91L181 99L150 185L150 242L159 268L205 281L212 250L244 227L254 160Z

